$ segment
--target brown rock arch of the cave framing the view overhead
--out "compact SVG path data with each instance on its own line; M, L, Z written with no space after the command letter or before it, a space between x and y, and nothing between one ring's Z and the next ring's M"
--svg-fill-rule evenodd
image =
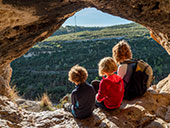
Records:
M10 81L11 61L86 7L144 25L170 54L169 0L0 0L0 87Z

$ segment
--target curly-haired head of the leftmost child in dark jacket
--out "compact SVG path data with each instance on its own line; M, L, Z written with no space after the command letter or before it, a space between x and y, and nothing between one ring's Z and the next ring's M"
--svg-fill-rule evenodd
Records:
M88 77L87 70L79 65L73 66L68 73L68 80L72 83L81 84L84 83Z

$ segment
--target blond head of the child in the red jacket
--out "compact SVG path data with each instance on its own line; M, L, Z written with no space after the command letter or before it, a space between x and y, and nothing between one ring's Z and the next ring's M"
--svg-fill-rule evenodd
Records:
M104 76L107 74L113 74L117 70L117 65L112 57L105 57L98 63L99 75Z

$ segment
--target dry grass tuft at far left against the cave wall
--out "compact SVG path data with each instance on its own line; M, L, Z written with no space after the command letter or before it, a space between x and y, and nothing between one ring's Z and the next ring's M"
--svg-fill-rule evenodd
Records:
M16 85L14 85L13 87L11 87L11 86L8 84L8 86L7 86L7 92L8 92L7 97L8 97L9 99L11 99L12 101L16 101L16 99L19 98L18 92L17 92L17 90L16 90Z

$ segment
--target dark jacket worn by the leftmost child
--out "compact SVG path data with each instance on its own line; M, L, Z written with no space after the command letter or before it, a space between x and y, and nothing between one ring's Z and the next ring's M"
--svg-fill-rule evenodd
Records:
M79 84L72 91L72 113L76 118L86 118L92 114L95 105L95 90L87 82Z

